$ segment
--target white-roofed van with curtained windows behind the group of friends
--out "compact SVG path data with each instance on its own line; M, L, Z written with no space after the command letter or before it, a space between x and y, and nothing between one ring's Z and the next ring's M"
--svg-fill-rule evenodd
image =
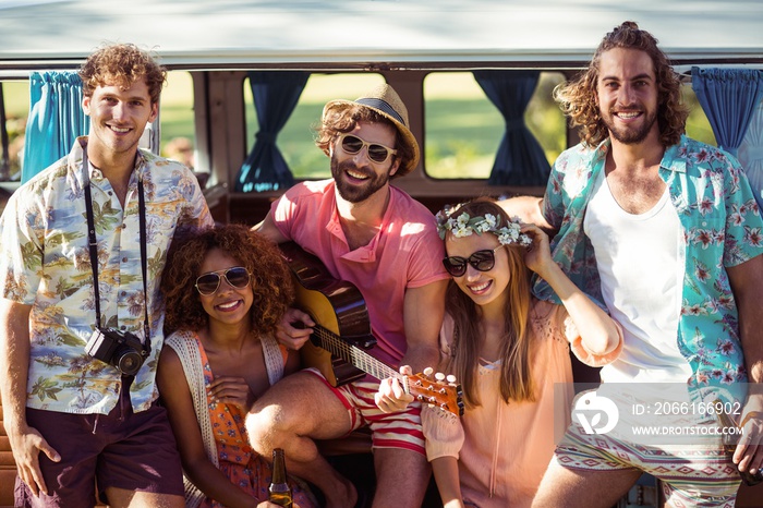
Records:
M0 208L23 172L11 152L25 119L9 112L20 100L29 108L35 73L75 71L104 41L153 49L170 70L146 145L187 157L219 222L256 223L291 182L328 177L310 130L320 107L383 81L407 105L423 154L395 185L433 211L480 195L542 195L556 156L578 142L550 90L585 68L604 34L626 20L657 37L683 76L688 134L716 143L692 70L763 69L763 3L755 0L0 0ZM512 87L512 98L488 98L491 83ZM293 109L272 111L268 97L287 86ZM505 137L521 137L507 143L534 155L501 152ZM286 173L261 178L272 168L250 164L257 142L278 149ZM576 366L578 379L592 375ZM3 453L0 470L12 472ZM11 504L8 477L0 505ZM761 506L752 491L742 487L738 507ZM623 506L659 506L649 482L631 494Z

